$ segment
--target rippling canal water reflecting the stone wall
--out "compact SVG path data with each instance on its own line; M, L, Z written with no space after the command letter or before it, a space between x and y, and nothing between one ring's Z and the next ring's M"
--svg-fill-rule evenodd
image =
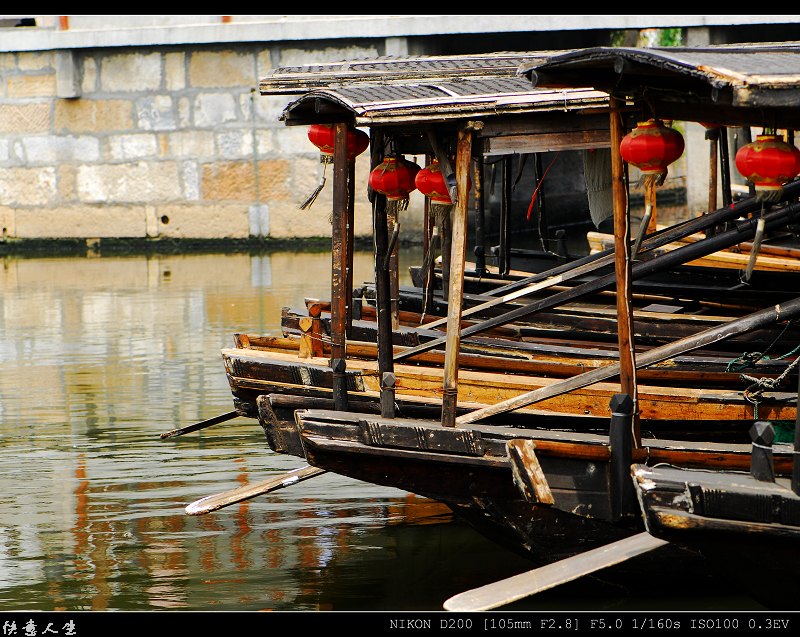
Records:
M329 296L330 268L289 252L3 260L0 610L439 610L526 570L437 503L331 474L185 514L299 466L248 419L159 434L230 411L220 349L278 334L282 307ZM356 255L354 280L372 278Z

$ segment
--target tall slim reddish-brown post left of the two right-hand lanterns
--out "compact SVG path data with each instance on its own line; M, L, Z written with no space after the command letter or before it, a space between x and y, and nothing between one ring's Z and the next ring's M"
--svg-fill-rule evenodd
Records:
M633 400L633 436L641 446L636 388L636 360L633 340L633 305L631 303L631 229L628 194L625 189L624 166L619 145L622 142L622 113L619 100L611 97L611 178L614 197L614 270L617 290L617 343L619 345L620 387Z

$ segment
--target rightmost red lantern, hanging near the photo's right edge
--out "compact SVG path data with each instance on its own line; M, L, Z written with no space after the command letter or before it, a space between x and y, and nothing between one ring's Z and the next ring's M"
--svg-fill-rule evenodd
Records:
M780 135L758 135L736 153L736 168L760 198L779 198L783 185L800 173L800 150Z

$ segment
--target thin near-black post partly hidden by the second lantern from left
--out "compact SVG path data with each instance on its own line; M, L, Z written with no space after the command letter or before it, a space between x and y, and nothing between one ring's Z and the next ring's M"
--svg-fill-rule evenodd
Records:
M372 131L372 168L383 161L383 133ZM378 325L378 373L381 378L381 416L394 417L394 383L387 380L394 374L394 350L392 348L391 281L384 265L389 250L389 227L386 218L386 195L372 192L372 232L375 255L375 309Z

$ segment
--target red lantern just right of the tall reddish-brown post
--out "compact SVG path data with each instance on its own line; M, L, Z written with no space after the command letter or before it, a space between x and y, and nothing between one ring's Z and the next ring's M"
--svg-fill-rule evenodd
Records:
M639 122L622 138L619 151L643 175L663 175L667 166L683 154L683 136L660 119Z

